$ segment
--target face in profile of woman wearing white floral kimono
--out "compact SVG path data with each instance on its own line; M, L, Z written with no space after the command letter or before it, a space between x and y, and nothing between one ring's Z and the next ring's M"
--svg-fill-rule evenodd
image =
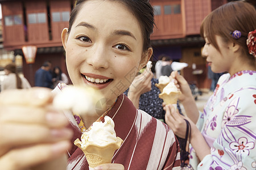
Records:
M208 65L214 73L229 72L233 63L232 50L229 48L229 45L232 45L232 43L224 42L221 37L217 35L216 42L220 51L210 44L207 37L205 37L205 45L202 54L204 57L207 57Z

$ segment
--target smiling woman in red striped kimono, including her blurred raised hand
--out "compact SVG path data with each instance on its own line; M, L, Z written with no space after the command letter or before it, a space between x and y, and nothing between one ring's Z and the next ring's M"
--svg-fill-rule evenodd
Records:
M44 102L36 107L37 105L32 105L29 102L22 105L18 102L19 99L24 102L22 96L33 99L29 97L32 96L30 92L19 91L20 95L18 97L15 95L15 99L10 97L14 95L9 95L7 92L4 97L7 97L8 100L3 101L9 102L10 105L7 105L7 108L0 107L0 121L6 120L6 118L1 117L3 115L10 116L7 120L15 121L0 122L1 127L3 127L0 128L0 134L4 134L2 132L6 131L5 128L7 131L20 129L20 126L30 129L31 124L36 126L39 122L43 126L42 129L51 131L57 126L57 130L53 129L51 132L46 130L48 133L43 133L43 130L37 129L38 138L37 140L34 139L33 142L28 140L29 138L23 138L24 134L26 134L25 137L35 138L33 134L29 133L29 130L22 130L22 133L17 131L15 134L23 140L21 144L13 142L13 135L10 137L5 133L6 135L2 138L6 139L6 142L3 145L0 142L0 151L3 151L0 152L0 167L2 165L1 160L3 160L2 163L10 165L10 167L13 164L22 164L23 169L35 167L40 163L47 164L48 169L52 163L63 168L61 165L66 165L66 163L60 158L63 158L65 150L68 150L67 169L89 169L82 150L73 145L73 142L81 137L82 130L90 129L93 122L104 120L104 116L109 116L114 121L116 135L123 140L123 143L115 151L112 163L100 165L96 169L179 169L179 143L172 130L163 122L136 109L133 103L123 94L133 82L138 71L146 66L152 55L150 35L153 28L154 10L147 0L77 1L71 12L69 28L64 28L61 33L69 77L74 86L96 88L103 95L104 100L99 100L95 106L95 111L90 114L77 116L75 113L65 112L65 116L69 120L69 127L73 131L71 148L69 148L70 145L67 145L66 142L71 136L68 130L62 129L67 122L64 123L62 120L63 124L57 124L57 126L53 120L59 121L61 118L54 118L54 116L51 116L52 114L45 118L45 114L49 112L48 109L52 108L52 96L49 93L40 93L42 99L40 97L39 99ZM67 86L58 84L53 92L61 93L64 87ZM79 99L83 99L83 97ZM108 104L102 104L102 101ZM81 103L83 102L85 101L81 101ZM23 119L18 119L17 123L17 119L13 118L12 115L16 116L16 109L20 107L23 109L23 112L18 112L20 116L34 112L39 112L42 115L37 117L39 120L36 121L32 119L34 117L24 116L26 120L23 117ZM9 109L11 113L2 114L5 113L6 109ZM53 125L45 122L46 120L50 120L50 122L52 120ZM27 122L30 122L30 124L27 124ZM15 125L15 128L10 129L13 125ZM56 145L56 141L62 143ZM36 160L31 159L33 156L22 157L23 154L35 154L32 147L42 146L45 143L50 148L40 150L40 154L44 154L44 157L42 157L44 159L40 159L40 156ZM9 153L18 153L13 149L16 148L16 145L25 148L23 154L16 157L20 158L19 160L26 161L18 162L18 159L11 159ZM5 148L5 150L2 150L2 148ZM6 163L5 158L10 162ZM50 163L49 160L51 160Z

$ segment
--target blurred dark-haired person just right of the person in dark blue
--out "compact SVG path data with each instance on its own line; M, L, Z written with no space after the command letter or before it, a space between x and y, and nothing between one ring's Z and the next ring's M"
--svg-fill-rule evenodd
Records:
M63 73L60 67L55 66L52 71L52 83L53 87L56 87L59 83L69 84L68 76Z

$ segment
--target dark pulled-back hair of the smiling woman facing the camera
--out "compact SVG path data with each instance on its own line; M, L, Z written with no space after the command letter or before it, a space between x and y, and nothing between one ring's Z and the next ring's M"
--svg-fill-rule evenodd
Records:
M76 6L71 11L69 19L68 33L71 31L73 22L76 19L77 13L80 11L82 3L88 0L78 0ZM150 48L150 35L154 28L154 8L150 5L148 0L114 0L125 5L138 19L141 24L141 31L143 35L143 51Z

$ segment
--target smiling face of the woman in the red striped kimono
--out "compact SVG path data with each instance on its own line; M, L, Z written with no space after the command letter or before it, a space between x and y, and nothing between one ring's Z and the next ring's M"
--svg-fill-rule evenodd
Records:
M72 83L101 90L111 101L131 84L152 54L142 52L138 20L116 1L89 0L76 16L71 32L62 34Z

